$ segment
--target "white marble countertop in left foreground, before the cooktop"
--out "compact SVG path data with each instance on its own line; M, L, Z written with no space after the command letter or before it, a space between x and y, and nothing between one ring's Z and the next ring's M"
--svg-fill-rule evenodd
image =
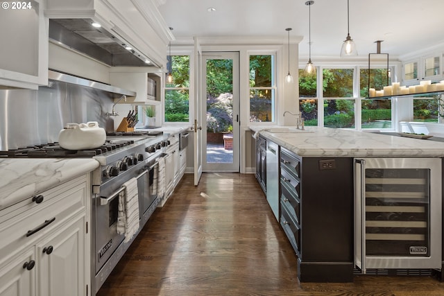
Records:
M0 158L0 209L98 167L92 158Z

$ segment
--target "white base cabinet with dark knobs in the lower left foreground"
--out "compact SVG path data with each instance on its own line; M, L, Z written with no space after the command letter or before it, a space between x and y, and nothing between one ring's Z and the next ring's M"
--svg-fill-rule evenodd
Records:
M0 295L90 295L89 174L0 211Z

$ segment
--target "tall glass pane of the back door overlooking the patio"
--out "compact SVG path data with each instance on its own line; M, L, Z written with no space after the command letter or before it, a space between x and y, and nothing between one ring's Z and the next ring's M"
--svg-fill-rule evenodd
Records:
M233 162L233 60L207 60L207 163Z

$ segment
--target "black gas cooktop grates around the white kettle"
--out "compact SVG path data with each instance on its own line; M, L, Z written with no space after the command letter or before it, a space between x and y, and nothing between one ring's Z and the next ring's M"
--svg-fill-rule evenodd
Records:
M44 145L17 148L14 150L0 151L0 156L7 157L93 157L109 151L128 146L133 140L105 141L99 148L87 150L66 150L58 145L58 142Z

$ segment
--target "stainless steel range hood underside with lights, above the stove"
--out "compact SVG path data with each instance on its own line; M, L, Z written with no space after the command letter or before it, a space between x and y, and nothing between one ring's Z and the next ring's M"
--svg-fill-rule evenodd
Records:
M104 28L94 28L92 23L91 19L49 19L49 40L109 66L158 67L137 49L125 48L133 47L131 44Z

